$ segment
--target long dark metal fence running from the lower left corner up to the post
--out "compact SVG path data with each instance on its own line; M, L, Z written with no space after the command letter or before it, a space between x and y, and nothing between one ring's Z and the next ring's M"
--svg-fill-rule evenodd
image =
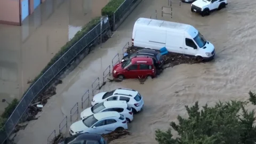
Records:
M5 125L0 130L0 143L4 143L4 141L9 137L30 103L43 89L45 89L45 86L48 85L52 79L55 78L71 61L73 61L73 59L81 51L87 48L89 44L91 44L108 28L109 21L108 18L105 17L102 22L102 31L101 24L99 23L91 31L89 31L89 33L84 35L77 43L75 43L65 54L62 55L59 60L57 60L48 70L46 70L45 73L39 77L32 86L30 86L27 93L20 100L19 105L15 108L12 115L9 117L9 119L7 119Z

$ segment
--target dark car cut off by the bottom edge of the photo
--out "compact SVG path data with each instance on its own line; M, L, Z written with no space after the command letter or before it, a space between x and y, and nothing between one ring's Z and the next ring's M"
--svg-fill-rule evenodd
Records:
M60 140L59 144L107 144L107 141L100 134L79 133Z

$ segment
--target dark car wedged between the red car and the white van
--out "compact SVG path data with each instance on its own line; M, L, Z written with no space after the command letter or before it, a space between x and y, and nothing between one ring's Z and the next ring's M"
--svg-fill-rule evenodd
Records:
M164 63L162 54L159 53L158 51L150 50L150 49L142 49L136 53L131 53L131 54L125 55L124 58L122 59L122 62L125 61L126 59L132 59L134 57L150 57L150 58L152 58L156 68L161 68Z

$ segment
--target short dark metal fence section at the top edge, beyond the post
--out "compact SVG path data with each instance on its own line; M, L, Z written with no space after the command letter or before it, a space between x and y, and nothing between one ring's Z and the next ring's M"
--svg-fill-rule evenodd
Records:
M131 4L137 0L125 0L113 14L113 30L116 30L116 23L124 16L124 14L131 8Z

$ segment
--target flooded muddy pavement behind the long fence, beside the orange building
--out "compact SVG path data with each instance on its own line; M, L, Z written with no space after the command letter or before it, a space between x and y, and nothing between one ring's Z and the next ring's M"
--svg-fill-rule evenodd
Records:
M109 0L47 0L22 22L0 25L0 98L21 98L29 79L36 77L60 47ZM7 103L0 105L2 113Z

